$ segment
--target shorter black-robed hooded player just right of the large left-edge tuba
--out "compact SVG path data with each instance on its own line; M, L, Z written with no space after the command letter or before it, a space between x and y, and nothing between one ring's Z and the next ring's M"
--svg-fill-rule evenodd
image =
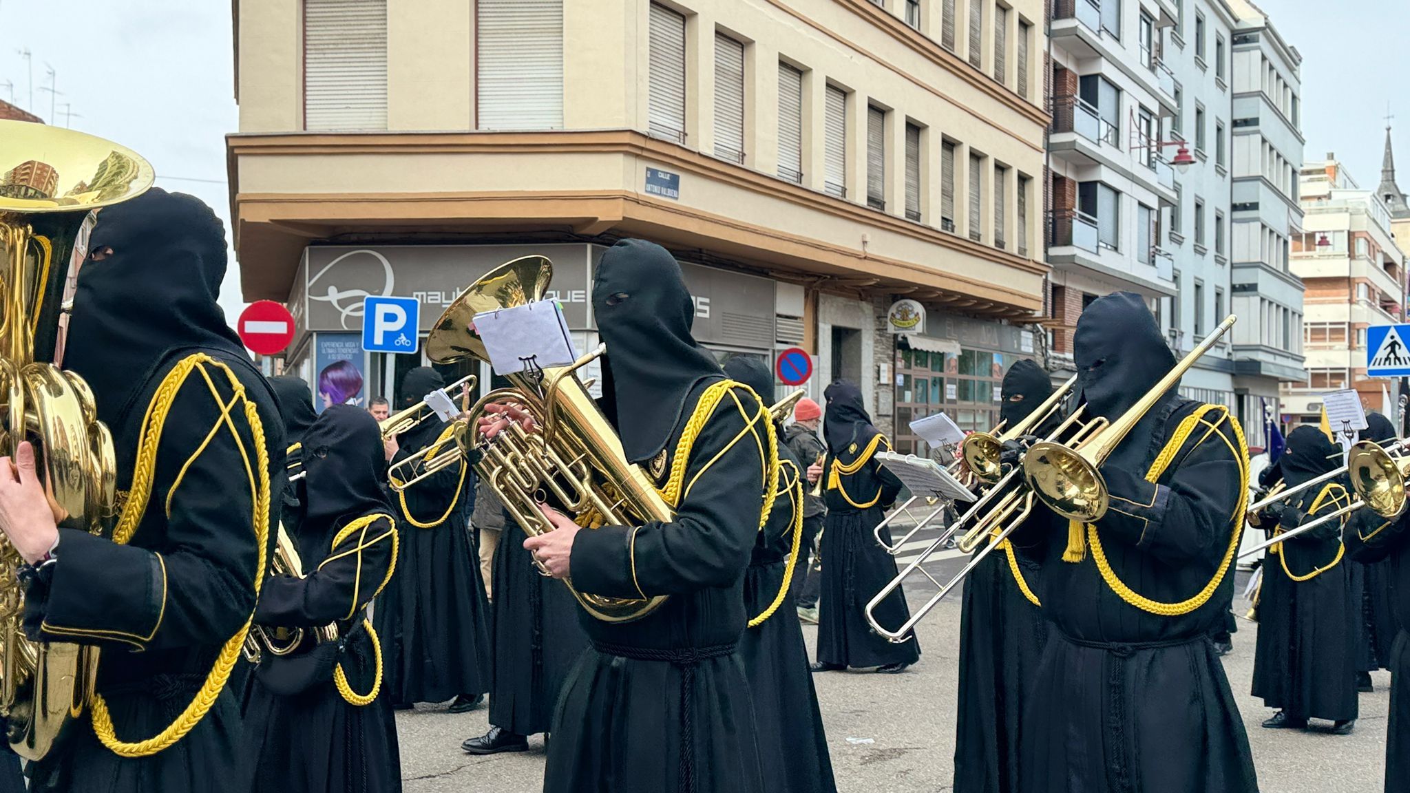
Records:
M402 789L396 722L386 697L371 703L378 676L365 607L392 576L396 528L382 492L386 459L371 413L331 405L300 436L306 477L285 531L298 546L303 577L272 576L255 622L303 628L288 656L265 655L244 706L241 779L262 793L398 793ZM314 648L313 629L336 624L341 652ZM314 656L343 669L354 701L330 666L309 673Z

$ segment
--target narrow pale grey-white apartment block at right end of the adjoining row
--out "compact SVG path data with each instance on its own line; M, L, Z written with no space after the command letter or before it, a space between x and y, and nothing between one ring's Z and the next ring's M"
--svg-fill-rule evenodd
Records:
M1303 382L1303 284L1289 262L1301 234L1297 169L1301 55L1249 0L1228 0L1232 32L1234 110L1231 303L1234 388L1251 446L1262 446L1269 411L1286 415L1279 382Z

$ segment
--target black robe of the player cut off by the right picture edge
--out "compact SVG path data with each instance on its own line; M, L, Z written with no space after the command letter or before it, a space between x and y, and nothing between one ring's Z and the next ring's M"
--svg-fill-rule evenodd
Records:
M1347 553L1368 564L1389 564L1400 629L1390 646L1390 720L1386 725L1385 793L1410 790L1410 514L1385 519L1371 509L1352 514Z

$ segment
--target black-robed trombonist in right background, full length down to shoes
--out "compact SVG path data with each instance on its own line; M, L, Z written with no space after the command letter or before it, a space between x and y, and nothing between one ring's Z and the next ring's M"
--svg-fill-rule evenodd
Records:
M1287 487L1340 466L1341 447L1317 428L1300 426L1287 435L1282 457ZM1332 481L1304 491L1296 509L1283 514L1282 525L1268 529L1287 531L1348 502L1347 488ZM1263 560L1252 693L1290 720L1356 718L1361 603L1352 598L1349 570L1342 563L1344 522L1331 521L1275 545Z

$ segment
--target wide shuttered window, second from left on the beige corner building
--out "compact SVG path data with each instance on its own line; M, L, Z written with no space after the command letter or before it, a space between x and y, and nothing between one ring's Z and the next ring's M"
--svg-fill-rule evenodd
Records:
M477 126L563 128L563 0L475 4Z

